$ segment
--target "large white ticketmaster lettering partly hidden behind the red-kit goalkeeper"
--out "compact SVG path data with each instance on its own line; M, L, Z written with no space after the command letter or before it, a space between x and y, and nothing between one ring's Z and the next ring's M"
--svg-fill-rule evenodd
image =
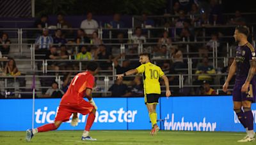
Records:
M58 107L56 111L48 111L48 107L44 107L44 109L37 109L35 112L35 121L36 123L53 123L54 118L56 116L56 112L58 111ZM135 116L137 114L137 110L128 110L124 111L124 108L121 107L118 110L111 110L111 111L96 111L95 120L94 122L99 123L115 123L116 121L122 122L134 122ZM86 116L78 114L79 123L86 122ZM72 118L72 117L71 117ZM70 119L71 119L70 118ZM68 121L70 123L71 120Z

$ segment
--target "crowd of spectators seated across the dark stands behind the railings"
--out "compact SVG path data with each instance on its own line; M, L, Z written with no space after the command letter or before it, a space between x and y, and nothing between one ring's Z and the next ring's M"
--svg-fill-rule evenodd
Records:
M141 44L156 43L156 45L145 45L143 51L150 52L152 59L159 59L157 65L161 66L166 74L184 73L184 69L188 69L187 60L184 57L201 57L202 60L195 60L193 67L194 74L198 74L193 80L193 85L200 85L199 88L193 90L194 93L201 95L214 95L216 91L211 88L214 84L214 76L216 68L214 68L209 61L212 57L213 44L216 42L218 56L223 55L223 46L221 41L225 41L222 36L225 36L225 31L220 31L218 28L209 29L210 38L203 37L202 27L209 25L246 25L246 20L241 15L240 11L236 11L233 18L225 20L222 15L221 5L216 1L211 1L211 8L209 11L198 8L198 4L192 3L190 7L183 8L180 4L174 3L171 13L164 14L175 15L175 17L163 17L163 26L170 27L170 29L157 32L157 39L147 38L146 28L155 27L158 22L154 19L148 18L146 13L141 16L140 24L135 27L131 38L127 38L127 32L118 31L120 28L125 28L125 23L122 22L122 15L115 13L113 20L110 20L104 25L99 24L97 20L93 19L93 13L88 12L86 20L81 22L81 26L77 31L63 29L71 28L64 15L59 14L57 17L56 29L51 31L48 25L47 15L36 20L34 27L42 31L36 31L33 35L36 37L34 43L36 46L36 59L51 60L47 63L47 69L52 70L48 74L63 75L61 84L58 84L54 79L49 80L50 83L41 81L42 86L52 86L46 92L43 91L43 97L61 97L67 90L68 84L72 75L79 70L76 62L68 61L54 61L54 60L106 60L99 62L100 69L111 71L113 67L116 69L116 74L124 73L125 71L138 66L138 62L130 59L138 59L138 47ZM105 27L113 30L115 39L103 41L98 34L98 28ZM175 30L173 29L175 27ZM117 31L116 31L117 29ZM175 32L173 32L175 31ZM230 33L232 35L232 32ZM68 37L68 39L67 39ZM72 39L70 39L72 37ZM195 42L205 41L202 44L189 44L189 53L187 52L187 45L182 43L174 44L175 42ZM8 34L3 32L0 38L0 59L3 56L8 56L10 52L10 39ZM114 53L115 46L107 45L108 43L129 44L125 45L124 53ZM118 49L120 49L118 47ZM122 59L125 58L125 59ZM221 69L222 73L227 73L232 62L232 58L228 60L228 66ZM122 65L120 65L122 62ZM113 66L112 66L113 63ZM19 76L19 66L15 65L15 60L8 58L8 62L0 64L1 76ZM38 63L37 67L42 70L42 63ZM64 71L64 72L61 72ZM65 70L73 70L74 72L65 72ZM186 71L185 71L186 72ZM223 83L225 78L221 78ZM179 85L179 78L177 76L169 77L170 85ZM185 80L186 81L186 80ZM20 81L18 81L19 83ZM10 86L19 88L19 84L8 83ZM58 85L61 85L59 87ZM3 79L0 80L0 86L3 86ZM16 87L17 86L17 87ZM0 87L1 88L1 87ZM61 89L59 89L61 88ZM140 76L134 79L128 78L124 80L116 80L110 86L109 91L111 96L143 96L143 83ZM4 92L1 88L1 92ZM180 90L173 88L174 94L180 93ZM4 95L3 93L1 95Z

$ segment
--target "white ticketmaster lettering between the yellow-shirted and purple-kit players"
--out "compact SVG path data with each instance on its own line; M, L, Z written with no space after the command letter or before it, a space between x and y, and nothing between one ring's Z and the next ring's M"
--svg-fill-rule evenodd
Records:
M181 118L181 121L174 121L174 114L172 113L172 121L170 120L169 114L164 118L164 130L194 130L194 131L211 131L213 132L216 127L217 123L206 122L206 118L203 118L202 122L185 122L184 117Z

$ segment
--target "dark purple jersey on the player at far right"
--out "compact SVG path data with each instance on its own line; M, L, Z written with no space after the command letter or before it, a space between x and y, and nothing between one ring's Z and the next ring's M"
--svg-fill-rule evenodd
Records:
M236 48L236 80L246 79L250 61L256 60L255 48L250 43ZM242 81L242 80L241 80ZM245 80L243 80L245 81Z

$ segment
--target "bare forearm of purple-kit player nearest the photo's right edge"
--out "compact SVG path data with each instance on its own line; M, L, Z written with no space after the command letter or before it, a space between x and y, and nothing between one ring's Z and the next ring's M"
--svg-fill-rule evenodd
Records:
M246 81L244 82L244 85L241 88L241 92L247 92L248 91L250 81L252 81L252 78L255 75L255 71L256 71L256 60L251 60L248 76L246 78Z

